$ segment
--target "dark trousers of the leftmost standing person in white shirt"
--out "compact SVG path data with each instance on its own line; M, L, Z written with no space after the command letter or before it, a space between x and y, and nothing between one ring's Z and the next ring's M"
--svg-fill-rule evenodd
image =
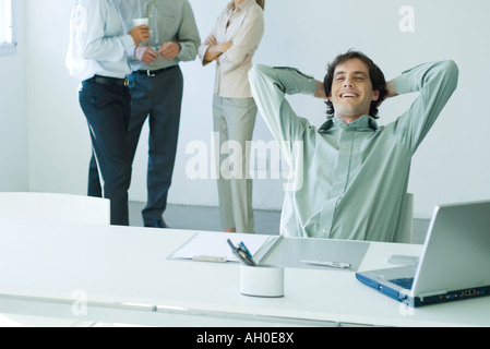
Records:
M94 166L101 178L99 193L93 195L88 190L88 195L109 198L111 225L128 226L128 189L131 182L131 157L127 145L131 117L129 89L122 84L108 85L87 80L82 82L79 99L92 139L91 168Z

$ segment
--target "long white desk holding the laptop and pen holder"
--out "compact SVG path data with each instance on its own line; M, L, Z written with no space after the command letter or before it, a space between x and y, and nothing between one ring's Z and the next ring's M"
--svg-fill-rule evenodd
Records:
M490 297L407 309L352 272L290 268L284 298L241 296L236 263L166 260L193 233L0 219L0 313L155 326L490 325ZM420 252L371 243L359 269Z

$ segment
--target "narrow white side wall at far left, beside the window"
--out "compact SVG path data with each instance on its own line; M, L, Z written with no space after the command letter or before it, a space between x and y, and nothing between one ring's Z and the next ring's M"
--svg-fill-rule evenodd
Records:
M19 47L0 56L0 191L28 190L25 2L15 0Z

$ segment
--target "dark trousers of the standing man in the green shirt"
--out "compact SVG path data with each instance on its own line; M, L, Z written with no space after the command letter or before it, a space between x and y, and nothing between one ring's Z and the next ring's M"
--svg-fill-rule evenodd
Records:
M143 124L148 120L150 125L147 203L142 212L144 224L150 225L160 220L167 207L178 145L183 76L179 65L175 65L154 76L134 72L128 77L131 119L127 144L131 164ZM100 184L95 159L91 168L88 194L99 196Z

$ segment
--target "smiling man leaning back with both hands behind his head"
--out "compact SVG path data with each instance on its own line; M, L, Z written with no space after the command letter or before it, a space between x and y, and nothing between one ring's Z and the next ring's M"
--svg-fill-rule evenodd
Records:
M453 61L420 64L386 82L358 51L338 56L324 82L291 68L255 65L252 94L291 177L302 181L285 195L282 234L393 241L404 210L411 157L457 85ZM389 97L418 92L410 108L379 125L378 107ZM299 118L286 95L326 100L320 128ZM301 142L302 147L294 146Z

